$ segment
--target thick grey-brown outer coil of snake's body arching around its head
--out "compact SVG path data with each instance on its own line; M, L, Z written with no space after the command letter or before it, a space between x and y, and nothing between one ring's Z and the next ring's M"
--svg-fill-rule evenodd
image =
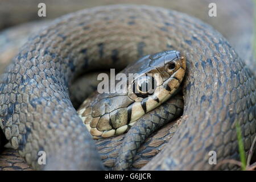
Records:
M68 86L81 72L122 69L143 55L170 49L187 59L182 91L188 117L142 169L212 169L212 150L220 160L238 159L235 123L240 122L247 151L255 137L253 72L208 24L142 5L82 10L31 38L1 77L3 133L33 168L42 168L36 154L44 150L46 169L102 169Z

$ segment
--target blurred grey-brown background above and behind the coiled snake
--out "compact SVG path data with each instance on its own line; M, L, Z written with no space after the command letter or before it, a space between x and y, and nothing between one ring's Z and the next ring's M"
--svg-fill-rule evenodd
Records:
M254 1L256 2L256 0ZM11 28L12 31L10 29L8 32L4 31L5 34L1 32L0 63L2 63L2 66L0 67L0 72L5 68L11 57L15 55L14 52L18 51L18 47L21 47L27 40L26 35L30 35L31 32L36 32L41 27L46 26L47 20L49 21L81 9L117 3L160 6L195 16L220 31L229 40L238 54L243 55L243 59L249 60L251 59L250 56L253 55L251 45L256 42L256 39L254 41L252 38L254 37L253 30L255 25L253 19L254 1L244 0L241 3L240 0L1 0L0 30L3 31L6 28L26 22L36 22L36 25L29 23L21 27ZM41 2L46 4L46 17L38 16L38 4ZM208 15L208 6L212 2L217 5L217 17L210 17ZM237 26L238 24L240 26ZM17 29L19 30L17 31ZM17 41L18 38L19 41ZM10 49L14 49L14 51L10 51ZM248 51L248 49L250 50ZM248 54L248 52L250 53Z

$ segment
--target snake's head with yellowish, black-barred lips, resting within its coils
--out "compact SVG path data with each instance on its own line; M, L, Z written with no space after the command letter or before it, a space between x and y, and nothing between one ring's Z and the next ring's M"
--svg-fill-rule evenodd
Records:
M185 57L179 51L144 56L121 72L127 79L126 88L116 88L115 93L94 93L78 113L93 138L123 134L176 92L185 68Z

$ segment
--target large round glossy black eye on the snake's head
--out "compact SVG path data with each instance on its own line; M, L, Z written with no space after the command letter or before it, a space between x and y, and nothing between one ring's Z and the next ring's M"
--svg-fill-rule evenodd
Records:
M133 92L139 97L146 97L154 93L156 82L154 77L142 76L133 83Z

